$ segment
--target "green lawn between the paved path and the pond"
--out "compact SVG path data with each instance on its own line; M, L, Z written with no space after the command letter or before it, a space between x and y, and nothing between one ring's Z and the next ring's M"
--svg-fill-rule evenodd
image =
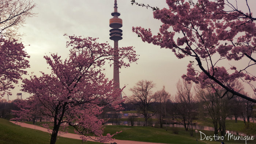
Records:
M31 122L29 122L31 123ZM39 124L39 122L37 122ZM193 137L189 135L189 132L186 132L184 128L168 128L167 131L165 128L154 128L150 126L123 126L123 125L105 125L105 134L110 133L116 134L113 138L120 140L134 140L134 141L146 141L146 142L155 142L155 143L171 143L171 144L220 144L220 141L210 141L203 140L196 142L196 133L193 133ZM174 131L178 131L178 134L175 134ZM213 136L214 132L200 130L206 136ZM69 127L69 132L74 133L72 127ZM200 133L197 133L197 139L200 139ZM254 140L256 142L256 139ZM245 144L245 141L234 141L234 140L224 140L227 144ZM255 143L254 142L254 143ZM253 143L252 141L247 141L247 143Z

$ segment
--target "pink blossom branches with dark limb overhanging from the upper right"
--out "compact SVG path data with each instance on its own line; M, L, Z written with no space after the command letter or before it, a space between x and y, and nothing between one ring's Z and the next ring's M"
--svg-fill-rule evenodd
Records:
M145 4L131 1L132 4L152 8L155 19L163 23L159 33L153 35L150 29L133 27L132 31L142 38L143 42L171 49L177 58L190 57L187 74L182 78L188 82L201 84L218 84L216 90L224 88L226 92L240 96L251 102L252 99L238 92L232 81L241 79L256 92L255 68L256 18L253 17L247 0L249 13L238 9L237 4L229 0L166 0L169 8L159 10ZM227 68L229 61L247 62L237 68L236 62ZM196 67L193 66L196 64ZM198 66L198 67L197 67Z

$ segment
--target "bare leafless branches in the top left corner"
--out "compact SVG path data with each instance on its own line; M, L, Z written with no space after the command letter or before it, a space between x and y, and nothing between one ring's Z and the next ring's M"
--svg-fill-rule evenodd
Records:
M1 0L0 1L0 35L1 37L17 38L20 26L27 17L34 16L33 0Z

